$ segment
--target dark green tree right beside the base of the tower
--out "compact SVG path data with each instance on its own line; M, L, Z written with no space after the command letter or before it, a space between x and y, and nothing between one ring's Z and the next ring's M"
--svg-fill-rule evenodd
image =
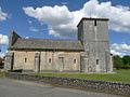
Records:
M123 67L123 63L120 56L114 56L114 68L121 69Z

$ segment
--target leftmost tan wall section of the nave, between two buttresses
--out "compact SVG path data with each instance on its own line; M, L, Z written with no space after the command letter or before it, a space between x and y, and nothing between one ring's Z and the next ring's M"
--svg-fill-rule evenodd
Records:
M12 51L14 52L13 70L35 70L35 53L27 51Z

